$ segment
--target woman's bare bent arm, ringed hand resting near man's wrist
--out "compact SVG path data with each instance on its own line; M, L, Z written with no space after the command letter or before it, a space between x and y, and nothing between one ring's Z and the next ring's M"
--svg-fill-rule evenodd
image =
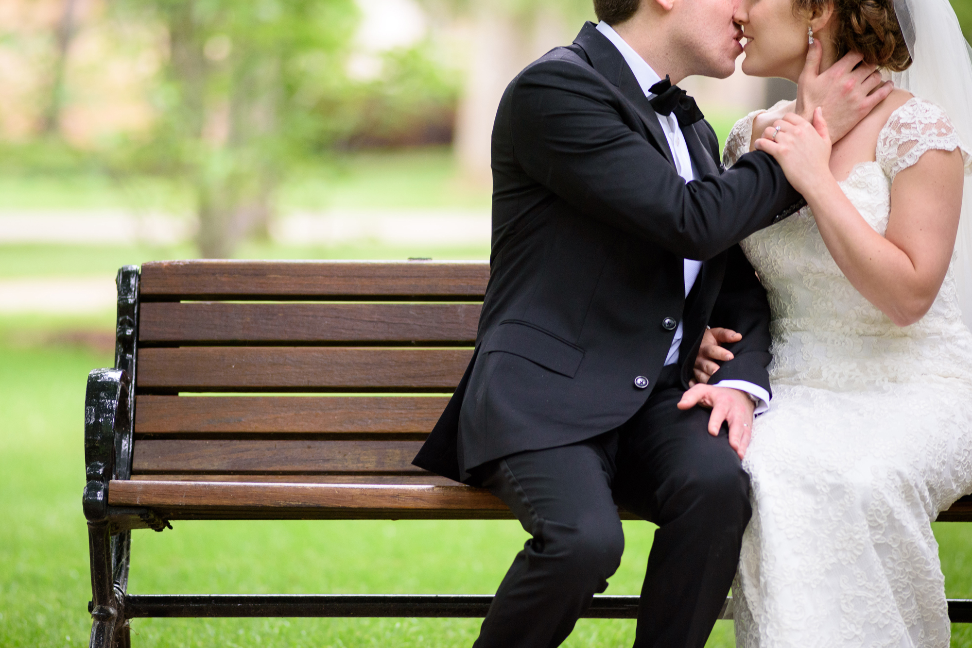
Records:
M898 326L920 320L938 295L955 248L962 200L960 152L929 150L894 178L890 218L881 236L830 173L830 141L822 114L815 113L813 125L787 114L755 147L776 157L807 199L823 242L853 287Z

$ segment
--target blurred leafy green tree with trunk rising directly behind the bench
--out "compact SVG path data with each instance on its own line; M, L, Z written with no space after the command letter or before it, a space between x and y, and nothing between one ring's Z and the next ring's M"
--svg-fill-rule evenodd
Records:
M152 133L123 164L185 181L200 253L226 258L265 233L288 170L344 131L320 107L347 88L354 2L130 0L120 11L156 20L168 49Z

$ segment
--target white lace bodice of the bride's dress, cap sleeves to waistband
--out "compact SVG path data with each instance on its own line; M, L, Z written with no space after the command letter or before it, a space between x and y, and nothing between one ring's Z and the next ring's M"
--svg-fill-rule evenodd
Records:
M726 142L726 166L748 150L756 114L733 128ZM875 161L857 164L840 186L867 223L884 234L895 176L928 150L955 148L961 144L948 115L913 98L891 113L879 135ZM964 148L962 156L966 173L972 173L972 156ZM773 311L774 382L859 389L970 377L972 335L961 321L951 268L928 313L916 324L898 327L837 267L809 208L753 234L742 245L766 286Z

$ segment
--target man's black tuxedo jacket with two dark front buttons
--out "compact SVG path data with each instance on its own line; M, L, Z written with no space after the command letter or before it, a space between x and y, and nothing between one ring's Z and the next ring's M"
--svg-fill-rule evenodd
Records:
M510 82L476 351L415 465L471 482L494 459L616 428L646 401L678 320L686 388L711 323L743 334L712 381L769 391L769 306L738 243L803 201L766 153L724 171L712 126L682 133L702 178L687 184L634 73L590 22ZM704 261L687 298L685 258Z

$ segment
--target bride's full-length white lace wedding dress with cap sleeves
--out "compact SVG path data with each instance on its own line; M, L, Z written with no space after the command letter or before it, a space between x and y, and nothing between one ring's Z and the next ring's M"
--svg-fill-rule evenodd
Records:
M729 136L727 166L755 114ZM912 99L841 187L883 234L895 175L958 146L947 115ZM928 313L899 328L841 273L809 209L743 249L769 294L774 361L773 403L743 463L753 516L733 587L737 646L948 646L930 523L972 490L972 334L952 270Z

